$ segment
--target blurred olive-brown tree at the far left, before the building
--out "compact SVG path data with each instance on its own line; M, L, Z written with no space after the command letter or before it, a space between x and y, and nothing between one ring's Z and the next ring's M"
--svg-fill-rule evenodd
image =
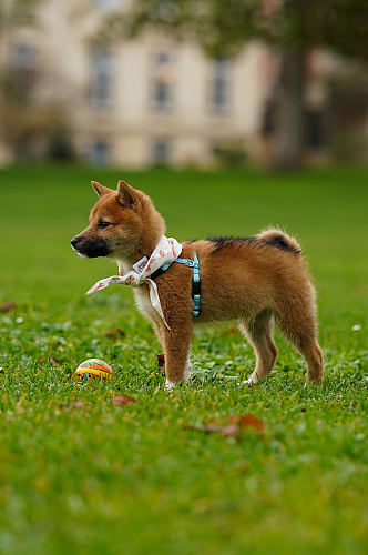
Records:
M44 69L32 42L17 40L17 29L38 26L44 0L0 0L0 139L18 161L75 158L63 107L40 101Z

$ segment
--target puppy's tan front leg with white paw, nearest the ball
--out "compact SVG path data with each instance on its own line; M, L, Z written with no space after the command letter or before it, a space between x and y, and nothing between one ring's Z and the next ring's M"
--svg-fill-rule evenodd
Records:
M186 377L192 324L164 330L166 387L173 389Z

